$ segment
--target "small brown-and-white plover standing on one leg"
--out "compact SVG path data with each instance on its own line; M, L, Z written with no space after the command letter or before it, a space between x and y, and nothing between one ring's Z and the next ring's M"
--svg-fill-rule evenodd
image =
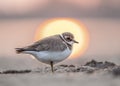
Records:
M74 40L74 35L64 32L46 37L32 45L16 48L16 52L33 55L40 62L51 65L51 70L54 72L53 65L65 60L71 54L74 43L78 43Z

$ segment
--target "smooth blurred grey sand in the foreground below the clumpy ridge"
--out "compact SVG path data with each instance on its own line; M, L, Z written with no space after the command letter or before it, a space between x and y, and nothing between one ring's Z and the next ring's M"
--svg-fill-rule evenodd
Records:
M8 74L0 75L0 86L120 86L119 78L109 75L62 74Z

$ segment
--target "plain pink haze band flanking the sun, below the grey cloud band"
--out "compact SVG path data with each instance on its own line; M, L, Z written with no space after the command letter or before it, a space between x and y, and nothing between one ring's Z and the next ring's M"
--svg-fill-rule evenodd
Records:
M17 56L14 48L34 42L35 32L46 19L24 19L0 21L1 56ZM119 19L80 18L88 32L90 43L83 56L116 55L119 56Z

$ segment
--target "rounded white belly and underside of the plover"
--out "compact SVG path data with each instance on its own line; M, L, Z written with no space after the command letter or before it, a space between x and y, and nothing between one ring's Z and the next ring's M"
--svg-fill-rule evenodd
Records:
M49 64L50 61L57 63L57 62L60 62L64 59L66 59L71 54L71 51L69 49L66 49L62 52L26 51L24 53L31 54L31 55L35 56L35 58L38 59L39 61Z

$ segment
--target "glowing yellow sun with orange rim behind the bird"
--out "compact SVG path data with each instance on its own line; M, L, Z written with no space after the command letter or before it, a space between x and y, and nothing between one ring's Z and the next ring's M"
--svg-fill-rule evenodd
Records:
M75 40L79 42L79 44L74 44L73 52L69 58L81 56L88 46L88 31L80 21L75 19L56 18L46 20L38 27L35 34L35 41L63 32L71 32L74 34Z

